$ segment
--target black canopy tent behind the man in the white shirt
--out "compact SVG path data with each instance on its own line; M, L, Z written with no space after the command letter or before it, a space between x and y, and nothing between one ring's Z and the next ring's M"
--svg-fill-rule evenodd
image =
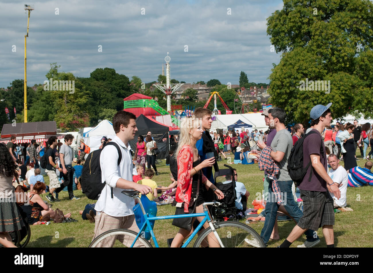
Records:
M170 150L168 136L168 132L170 130L169 127L156 123L142 114L137 117L136 126L138 131L136 132L134 140L131 140L129 143L131 145L131 149L134 151L136 150L137 136L141 135L144 137L145 140L146 134L148 133L148 131L151 131L151 136L157 143L159 149L157 158L166 158Z

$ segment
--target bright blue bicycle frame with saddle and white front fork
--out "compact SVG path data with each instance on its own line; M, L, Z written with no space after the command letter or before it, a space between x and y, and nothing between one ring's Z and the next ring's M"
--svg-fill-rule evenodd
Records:
M188 246L188 244L192 241L192 239L197 234L197 232L200 231L200 229L202 228L202 226L204 225L204 223L206 223L206 221L209 223L209 226L211 227L212 231L214 232L215 237L216 237L217 241L219 242L220 246L224 247L222 241L219 238L219 235L215 231L214 225L213 225L213 223L212 223L212 221L210 219L210 216L209 216L209 210L207 209L207 205L211 205L214 202L203 203L203 213L192 213L192 214L185 214L185 215L167 215L167 216L159 216L159 217L149 217L148 214L145 212L144 207L142 206L140 198L138 196L132 196L132 197L134 197L134 199L137 199L139 201L139 204L140 204L140 207L141 207L141 210L142 210L142 214L143 214L143 216L145 218L145 223L142 225L142 227L141 227L139 233L137 234L134 242L132 243L131 247L134 247L135 242L141 236L141 233L145 232L145 228L146 227L149 228L149 232L150 232L151 238L153 239L155 247L159 247L157 239L156 239L156 236L154 235L153 228L150 225L150 221L151 220L164 220L164 219L175 219L175 218L191 218L191 217L199 217L199 216L204 216L202 222L200 222L200 224L193 231L193 233L189 236L189 238L182 245L182 247L187 247Z

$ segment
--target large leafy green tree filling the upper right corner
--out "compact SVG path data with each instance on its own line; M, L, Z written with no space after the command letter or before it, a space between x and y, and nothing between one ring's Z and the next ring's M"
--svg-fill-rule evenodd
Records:
M270 41L282 52L269 76L270 102L285 108L288 122L307 124L311 108L328 102L336 118L357 109L368 112L361 91L372 97L362 79L369 76L357 69L366 64L361 56L371 56L372 10L366 0L284 0L283 9L267 19ZM330 93L303 90L302 80L330 80Z

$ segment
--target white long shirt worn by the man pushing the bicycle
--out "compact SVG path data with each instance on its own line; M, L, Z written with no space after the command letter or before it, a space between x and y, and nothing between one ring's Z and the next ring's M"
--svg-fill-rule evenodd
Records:
M106 185L98 197L95 210L114 217L127 216L134 214L132 208L135 206L135 201L132 197L123 194L123 189L116 188L116 182L119 178L132 181L131 147L129 145L126 147L117 136L113 137L112 141L119 145L122 161L117 166L119 155L115 146L107 145L103 148L100 154L101 181L106 181ZM111 187L113 187L113 199Z

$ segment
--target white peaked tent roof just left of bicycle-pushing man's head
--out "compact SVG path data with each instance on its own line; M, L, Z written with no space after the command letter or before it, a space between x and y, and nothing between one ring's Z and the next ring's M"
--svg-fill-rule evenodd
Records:
M85 135L85 143L90 146L91 152L97 150L101 145L101 137L113 138L115 131L113 124L109 120L103 120Z

